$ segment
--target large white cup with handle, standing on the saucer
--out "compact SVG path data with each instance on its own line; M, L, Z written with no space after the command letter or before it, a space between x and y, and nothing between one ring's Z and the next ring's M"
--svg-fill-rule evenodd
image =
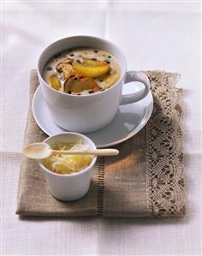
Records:
M110 52L120 64L122 70L120 80L104 92L89 95L72 95L51 88L43 79L45 63L56 53L74 47L92 47ZM150 91L150 82L146 74L134 70L126 71L126 57L121 49L107 40L90 36L61 39L48 46L39 57L37 70L41 90L53 121L65 130L78 133L104 128L116 116L119 104L140 101ZM122 86L131 81L142 82L144 89L123 96Z

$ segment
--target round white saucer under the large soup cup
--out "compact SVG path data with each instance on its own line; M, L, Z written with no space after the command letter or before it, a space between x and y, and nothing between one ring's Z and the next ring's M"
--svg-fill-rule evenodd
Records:
M123 92L131 92L132 87L134 86L124 86ZM137 84L135 87L137 89L140 86ZM146 125L151 116L152 109L153 98L150 92L146 98L138 103L120 105L115 119L106 128L88 133L86 136L92 139L99 148L115 146L137 134ZM45 104L40 86L33 96L33 116L39 128L45 134L50 136L65 132L65 130L56 126L51 120L50 112Z

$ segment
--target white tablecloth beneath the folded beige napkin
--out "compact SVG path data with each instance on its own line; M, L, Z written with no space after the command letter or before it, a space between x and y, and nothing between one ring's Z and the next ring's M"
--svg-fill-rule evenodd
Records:
M2 253L199 255L201 30L196 2L3 2ZM29 71L56 39L90 34L125 51L128 69L181 73L187 216L183 219L23 218L15 215Z

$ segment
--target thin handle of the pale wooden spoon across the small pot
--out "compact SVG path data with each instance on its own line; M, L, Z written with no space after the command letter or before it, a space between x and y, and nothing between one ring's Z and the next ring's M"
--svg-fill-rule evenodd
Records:
M53 150L54 153L68 154L68 155L94 155L94 156L115 156L119 153L118 150L113 148L97 149L88 151L67 151L67 150Z

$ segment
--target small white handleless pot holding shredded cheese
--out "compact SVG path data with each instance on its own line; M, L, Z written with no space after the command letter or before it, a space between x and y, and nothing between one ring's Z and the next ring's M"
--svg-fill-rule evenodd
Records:
M89 145L89 149L95 150L96 146L88 137L82 134L76 133L62 133L50 136L45 143L50 146L55 142L71 143L81 139L85 144ZM72 201L82 198L90 187L91 174L97 158L92 159L92 163L80 172L73 174L61 175L56 174L47 168L43 164L40 164L41 169L45 172L45 179L48 183L50 193L56 198L64 201Z

